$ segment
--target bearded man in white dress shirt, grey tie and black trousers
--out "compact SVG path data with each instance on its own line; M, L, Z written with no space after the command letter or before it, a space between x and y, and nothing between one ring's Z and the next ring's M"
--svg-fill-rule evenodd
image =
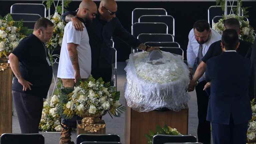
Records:
M191 75L200 64L203 56L208 51L210 45L221 39L221 35L210 28L205 20L195 22L193 29L189 32L187 62ZM192 77L192 76L191 76ZM206 84L203 75L196 86L197 106L198 106L198 141L204 144L211 143L211 123L206 121L209 96L203 90Z

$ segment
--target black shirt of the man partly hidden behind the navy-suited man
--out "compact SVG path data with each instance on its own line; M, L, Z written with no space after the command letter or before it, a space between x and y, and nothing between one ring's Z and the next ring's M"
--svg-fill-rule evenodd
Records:
M240 45L238 47L238 49L236 50L238 54L240 54L241 56L246 56L248 49L251 47L252 43L243 41L243 40L239 40ZM208 59L218 56L222 53L222 49L221 49L221 40L216 41L214 43L212 43L207 51L207 53L205 54L205 56L202 58L203 62L207 62Z

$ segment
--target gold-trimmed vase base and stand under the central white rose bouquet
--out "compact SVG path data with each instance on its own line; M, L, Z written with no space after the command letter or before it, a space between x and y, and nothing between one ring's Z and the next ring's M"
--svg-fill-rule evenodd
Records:
M77 120L77 135L80 134L106 134L106 124L99 118L87 117Z

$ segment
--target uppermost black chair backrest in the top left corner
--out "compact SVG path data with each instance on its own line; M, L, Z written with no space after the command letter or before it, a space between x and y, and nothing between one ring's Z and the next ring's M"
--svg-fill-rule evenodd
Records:
M12 13L39 14L46 17L46 7L43 4L16 3L11 6Z

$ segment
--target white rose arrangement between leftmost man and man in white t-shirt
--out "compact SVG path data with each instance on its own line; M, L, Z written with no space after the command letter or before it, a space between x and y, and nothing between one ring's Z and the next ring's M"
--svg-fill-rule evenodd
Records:
M66 23L62 22L61 16L57 12L51 16L50 20L54 24L53 35L50 41L46 43L46 47L49 49L49 55L51 57L53 51L56 50L57 47L61 47Z

